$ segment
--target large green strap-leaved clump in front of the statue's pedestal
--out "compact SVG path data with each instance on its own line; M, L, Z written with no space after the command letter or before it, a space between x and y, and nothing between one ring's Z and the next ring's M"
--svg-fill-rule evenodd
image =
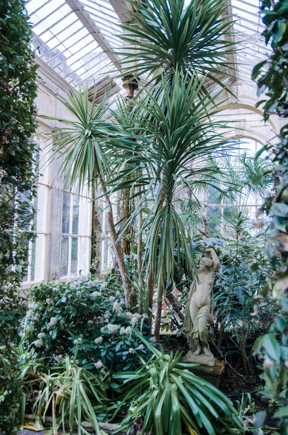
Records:
M194 364L181 364L178 352L166 355L141 335L153 356L134 372L114 375L123 379L126 393L114 415L128 409L121 429L129 429L135 417L143 419L143 433L157 435L242 434L243 425L232 402L218 388L188 370ZM144 362L144 361L143 361Z

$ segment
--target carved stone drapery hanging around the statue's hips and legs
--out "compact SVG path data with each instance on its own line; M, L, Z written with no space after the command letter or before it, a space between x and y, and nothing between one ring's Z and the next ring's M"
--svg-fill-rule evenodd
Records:
M210 311L207 309L201 309L198 312L195 324L193 325L191 315L190 315L190 303L193 294L196 291L196 283L193 282L188 293L187 302L185 306L185 317L184 317L184 333L187 337L189 348L194 352L196 350L198 341L207 344L208 343L208 328L214 323L213 317L213 303L211 304ZM213 301L213 290L211 291L211 301Z

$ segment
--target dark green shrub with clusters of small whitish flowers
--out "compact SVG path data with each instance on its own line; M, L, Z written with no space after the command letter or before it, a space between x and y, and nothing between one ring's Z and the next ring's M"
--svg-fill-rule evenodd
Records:
M86 368L105 365L111 372L141 365L139 356L146 359L148 351L131 326L141 331L147 316L126 311L121 291L108 287L88 276L32 288L26 339L38 357L74 355L77 346L77 363Z

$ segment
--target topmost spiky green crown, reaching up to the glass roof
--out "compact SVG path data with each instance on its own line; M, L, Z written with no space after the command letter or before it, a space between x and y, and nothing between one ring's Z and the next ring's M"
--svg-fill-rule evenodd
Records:
M178 69L189 80L198 70L212 83L223 86L231 79L235 52L233 20L223 0L128 0L134 7L122 24L126 43L121 55L121 75L139 77L161 84L161 72L174 76ZM132 18L132 19L131 19ZM230 68L230 73L229 73ZM222 80L222 81L221 81ZM227 80L226 80L227 81ZM160 86L161 87L161 86ZM204 83L201 93L205 94Z

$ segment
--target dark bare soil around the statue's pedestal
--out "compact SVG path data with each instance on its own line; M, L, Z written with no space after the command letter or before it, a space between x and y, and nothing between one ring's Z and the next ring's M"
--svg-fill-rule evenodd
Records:
M256 337L251 337L248 345L252 345L255 341ZM227 337L228 345L229 345L229 337ZM180 351L183 352L183 355L185 355L189 348L187 346L187 340L185 336L179 336L176 335L163 335L161 336L160 343L164 348L164 351L166 353L170 353L173 351ZM219 361L221 361L223 358L219 355L217 355L217 350L211 348L212 353L214 354L215 358L218 358ZM234 345L231 344L231 350L227 352L226 358L232 365L232 367L238 371L239 374L244 373L244 364L243 359L241 357L241 353L238 351L235 351ZM268 403L267 399L264 399L261 397L261 391L258 391L257 388L261 388L261 385L264 386L264 381L261 380L261 370L257 367L257 365L261 362L256 360L254 356L251 356L251 361L253 363L253 369L255 371L255 383L248 383L245 382L240 375L237 376L231 369L226 365L226 368L221 375L221 381L220 381L220 390L223 391L224 394L226 394L232 402L234 402L234 405L237 403L236 401L241 401L242 398L242 392L244 393L250 393L251 395L251 408L253 408L254 412L264 410L266 412L266 418L265 418L265 426L266 428L277 428L277 419L272 418L273 413L275 412ZM251 413L251 418L253 417L253 413Z

